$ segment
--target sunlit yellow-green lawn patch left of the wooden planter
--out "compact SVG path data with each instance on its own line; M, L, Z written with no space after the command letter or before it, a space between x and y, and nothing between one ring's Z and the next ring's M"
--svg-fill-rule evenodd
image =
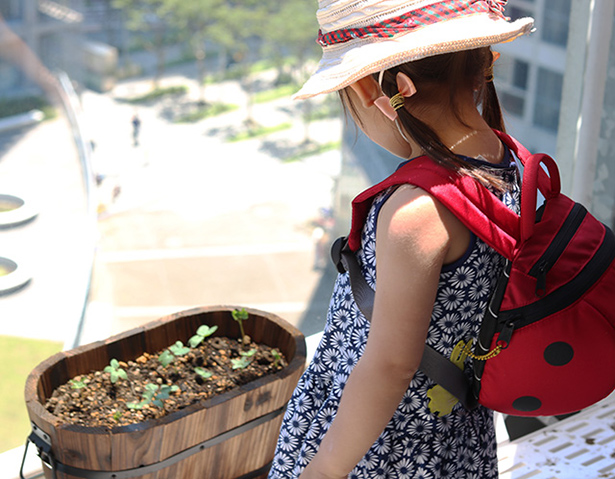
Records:
M0 336L0 452L23 446L30 434L24 386L30 371L62 343Z

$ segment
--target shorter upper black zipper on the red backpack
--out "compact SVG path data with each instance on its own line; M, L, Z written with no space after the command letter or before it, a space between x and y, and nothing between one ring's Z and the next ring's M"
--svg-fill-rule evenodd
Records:
M575 203L551 244L530 268L528 274L536 278L536 296L542 297L545 295L547 290L547 273L562 255L586 215L587 210L585 207Z

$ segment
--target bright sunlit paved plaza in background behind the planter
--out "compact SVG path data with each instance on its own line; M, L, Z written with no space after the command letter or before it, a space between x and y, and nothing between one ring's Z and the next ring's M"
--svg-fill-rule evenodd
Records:
M178 84L198 98L196 83L182 74L167 76L163 86ZM148 88L151 80L129 81L110 95L82 96L95 169L105 176L82 342L214 304L274 312L305 334L321 330L333 273L313 267L312 222L331 205L339 152L290 163L279 157L304 135L289 99L255 105L253 117L265 126L292 122L291 129L230 143L228 133L246 118L245 94L236 82L207 86L206 98L240 108L195 124L165 118L182 97L138 108L121 102ZM142 122L136 147L135 112ZM339 120L310 129L319 143L340 135Z

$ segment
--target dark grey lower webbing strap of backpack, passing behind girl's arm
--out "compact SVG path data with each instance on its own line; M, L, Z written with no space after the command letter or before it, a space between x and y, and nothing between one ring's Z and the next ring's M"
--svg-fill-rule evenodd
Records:
M365 281L361 273L361 266L357 261L356 255L350 250L346 237L338 238L333 243L331 257L340 273L348 271L350 288L355 303L357 303L363 316L368 321L371 321L375 293L367 281ZM428 344L425 345L423 350L419 369L427 374L431 380L455 396L466 409L474 409L478 406L470 381L464 372Z

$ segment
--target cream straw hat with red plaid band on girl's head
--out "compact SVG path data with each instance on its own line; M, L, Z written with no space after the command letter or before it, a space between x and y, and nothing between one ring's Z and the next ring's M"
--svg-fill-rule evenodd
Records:
M505 0L319 0L323 56L293 98L340 90L409 61L530 33L534 20L509 21L505 5Z

